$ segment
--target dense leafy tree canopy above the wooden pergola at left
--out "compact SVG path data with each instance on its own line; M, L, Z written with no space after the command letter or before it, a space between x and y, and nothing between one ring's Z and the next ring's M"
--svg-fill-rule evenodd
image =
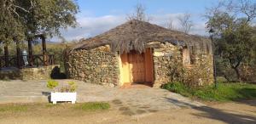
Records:
M0 41L27 40L38 34L60 35L76 25L79 7L74 0L1 0Z

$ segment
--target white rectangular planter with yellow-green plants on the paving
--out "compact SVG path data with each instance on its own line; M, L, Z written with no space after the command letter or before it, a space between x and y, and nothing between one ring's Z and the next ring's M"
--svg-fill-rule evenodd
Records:
M67 82L67 84L64 86L56 88L57 86L59 86L59 82L56 82L54 80L49 80L47 82L47 87L52 90L52 92L50 93L50 101L53 104L56 104L58 101L71 101L72 104L75 104L75 101L77 99L77 93L75 92L77 88L76 83Z

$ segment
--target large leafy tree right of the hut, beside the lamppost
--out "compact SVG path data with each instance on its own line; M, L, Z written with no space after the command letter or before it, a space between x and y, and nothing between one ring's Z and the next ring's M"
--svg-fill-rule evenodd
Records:
M215 50L221 59L218 65L229 65L232 70L235 70L239 81L244 80L239 66L251 65L253 53L256 50L255 31L251 25L256 14L256 9L253 8L256 7L255 5L256 3L252 4L246 0L230 0L227 3L219 3L218 7L208 9L206 16L208 30L213 29L217 37L214 40Z

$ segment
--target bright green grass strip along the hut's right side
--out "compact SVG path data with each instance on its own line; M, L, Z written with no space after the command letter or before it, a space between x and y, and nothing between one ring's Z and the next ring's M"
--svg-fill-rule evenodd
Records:
M210 100L210 101L232 101L242 99L256 99L256 85L247 83L223 83L218 87L214 85L200 88L190 88L183 83L167 83L163 88L185 97Z

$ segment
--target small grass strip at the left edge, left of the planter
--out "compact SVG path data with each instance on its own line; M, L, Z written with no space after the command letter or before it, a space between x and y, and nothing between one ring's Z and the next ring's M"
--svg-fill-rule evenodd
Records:
M27 106L26 105L4 105L0 106L0 112L26 112Z

